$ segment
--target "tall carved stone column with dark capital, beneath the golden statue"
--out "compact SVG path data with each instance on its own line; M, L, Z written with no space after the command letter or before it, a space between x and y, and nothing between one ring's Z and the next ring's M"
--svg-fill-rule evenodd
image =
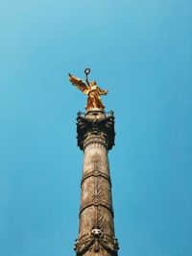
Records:
M117 256L108 150L114 144L114 116L98 109L79 113L78 145L84 150L77 256Z

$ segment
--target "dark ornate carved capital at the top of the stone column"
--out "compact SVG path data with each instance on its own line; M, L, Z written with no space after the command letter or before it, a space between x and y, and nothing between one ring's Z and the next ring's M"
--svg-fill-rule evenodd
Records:
M93 116L93 117L92 117ZM78 146L82 150L89 143L102 143L108 150L114 145L114 116L110 112L108 115L98 118L97 115L78 114L77 117L77 139Z

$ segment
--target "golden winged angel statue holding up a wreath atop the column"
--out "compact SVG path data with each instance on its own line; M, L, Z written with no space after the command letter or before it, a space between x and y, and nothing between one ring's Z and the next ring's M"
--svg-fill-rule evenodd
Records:
M102 103L100 95L107 95L108 90L101 89L95 81L88 82L88 74L90 73L90 68L85 68L84 70L86 79L84 81L78 77L73 76L69 73L69 81L76 86L79 90L82 90L87 97L87 104L85 106L86 110L90 109L105 109L105 106Z

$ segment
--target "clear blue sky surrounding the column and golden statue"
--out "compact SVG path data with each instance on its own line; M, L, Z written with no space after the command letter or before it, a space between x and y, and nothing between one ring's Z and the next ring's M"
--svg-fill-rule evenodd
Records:
M1 0L0 38L0 255L75 255L86 66L116 117L119 256L192 255L191 1Z

